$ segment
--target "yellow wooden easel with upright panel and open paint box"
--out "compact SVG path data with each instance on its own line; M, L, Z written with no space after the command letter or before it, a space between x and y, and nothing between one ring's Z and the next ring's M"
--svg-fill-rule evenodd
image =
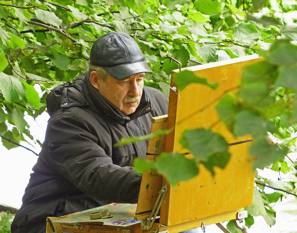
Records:
M187 152L178 144L178 139L184 129L197 127L219 132L228 143L250 139L249 136L235 138L219 121L215 105L224 93L236 91L241 71L259 59L252 55L184 68L207 78L209 83L218 83L219 87L214 91L206 85L193 83L183 91L178 88L170 91L168 116L154 118L152 132L171 127L174 130L166 137L151 140L148 153ZM176 87L174 74L178 71L172 71L173 90ZM49 219L49 226L52 221L64 232L177 233L197 227L204 232L206 225L217 224L222 231L228 232L220 222L237 219L242 224L247 217L244 207L252 204L255 174L247 153L249 143L230 146L230 161L225 169L215 169L215 177L200 166L196 177L171 187L165 178L149 170L143 174L138 204L97 207ZM148 155L147 159L154 160L155 157ZM112 218L90 219L91 213L105 209ZM155 215L159 215L157 219L154 219Z

